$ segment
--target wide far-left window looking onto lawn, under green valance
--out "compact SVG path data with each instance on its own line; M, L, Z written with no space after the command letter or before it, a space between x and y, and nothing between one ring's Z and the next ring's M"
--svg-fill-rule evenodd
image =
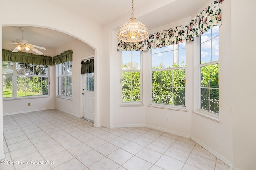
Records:
M3 98L48 95L48 66L3 61Z

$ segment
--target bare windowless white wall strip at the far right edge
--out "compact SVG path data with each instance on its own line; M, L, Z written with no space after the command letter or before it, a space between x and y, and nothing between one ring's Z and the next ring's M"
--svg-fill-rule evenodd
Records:
M232 162L241 170L255 170L256 160L255 6L231 1Z

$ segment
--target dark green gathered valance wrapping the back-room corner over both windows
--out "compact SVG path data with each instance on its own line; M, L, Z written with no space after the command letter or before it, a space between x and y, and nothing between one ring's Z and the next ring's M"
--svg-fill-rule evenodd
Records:
M20 63L30 63L30 64L42 64L42 65L56 65L60 63L65 63L67 61L72 61L73 51L65 51L60 55L49 57L45 55L35 55L32 53L24 52L12 52L3 49L3 61L12 61Z

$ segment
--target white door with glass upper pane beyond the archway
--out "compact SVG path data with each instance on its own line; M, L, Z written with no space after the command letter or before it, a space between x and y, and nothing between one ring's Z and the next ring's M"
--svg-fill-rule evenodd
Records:
M84 74L83 117L94 122L94 73Z

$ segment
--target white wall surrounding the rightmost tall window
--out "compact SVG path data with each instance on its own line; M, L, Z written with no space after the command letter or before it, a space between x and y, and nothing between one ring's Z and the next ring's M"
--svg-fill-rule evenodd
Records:
M207 4L210 4L209 1ZM202 9L203 10L203 9ZM222 26L220 26L220 123L192 113L192 139L210 150L215 156L230 166L232 160L232 110L231 110L231 54L230 54L230 0L222 3ZM196 43L197 42L197 43ZM198 40L193 43L194 85L193 110L198 108Z

